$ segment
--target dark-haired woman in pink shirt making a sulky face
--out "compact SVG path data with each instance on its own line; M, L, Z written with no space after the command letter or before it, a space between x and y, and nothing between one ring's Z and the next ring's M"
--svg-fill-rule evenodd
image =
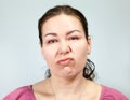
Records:
M47 80L21 87L3 100L128 100L121 92L93 82L94 63L88 59L91 38L78 10L69 5L50 9L38 28L49 67Z

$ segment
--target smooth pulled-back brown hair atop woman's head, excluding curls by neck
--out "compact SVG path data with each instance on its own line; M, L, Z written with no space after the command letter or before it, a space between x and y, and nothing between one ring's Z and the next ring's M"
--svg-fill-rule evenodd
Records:
M83 14L81 12L79 12L78 10L69 6L69 5L57 5L55 8L52 8L50 9L40 19L39 19L39 23L38 23L38 30L39 30L39 39L40 39L40 44L41 46L43 46L43 40L42 40L42 26L43 24L54 17L54 16L57 16L57 15L61 15L61 14L66 14L66 15L72 15L72 16L75 16L77 17L81 25L82 25L82 28L84 30L84 33L86 33L86 38L88 40L89 38L89 34L88 34L88 22L86 19L86 17L83 16Z

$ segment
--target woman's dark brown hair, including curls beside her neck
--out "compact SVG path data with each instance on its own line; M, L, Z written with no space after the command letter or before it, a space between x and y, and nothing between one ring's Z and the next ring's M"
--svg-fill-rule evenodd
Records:
M84 31L84 34L86 34L86 39L88 40L88 37L89 37L88 22L87 22L84 15L79 10L74 9L70 5L56 5L52 9L50 9L49 11L47 11L38 22L39 40L40 40L40 45L41 46L43 46L42 32L41 32L43 24L48 19L50 19L54 16L61 15L61 14L77 17L82 25L82 28L83 28L83 31ZM94 77L95 77L94 69L95 69L95 65L90 59L87 59L87 63L86 63L86 67L83 69L83 77L93 81ZM51 76L50 69L47 70L46 75L47 75L47 78Z

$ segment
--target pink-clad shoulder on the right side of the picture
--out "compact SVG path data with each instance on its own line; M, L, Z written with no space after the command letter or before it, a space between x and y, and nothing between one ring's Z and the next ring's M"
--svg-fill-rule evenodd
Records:
M102 94L100 100L128 100L128 98L114 88L102 86Z

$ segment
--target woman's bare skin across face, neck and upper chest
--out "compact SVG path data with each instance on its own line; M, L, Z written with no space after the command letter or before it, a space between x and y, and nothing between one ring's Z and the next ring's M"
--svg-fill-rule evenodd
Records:
M101 86L82 76L91 38L75 16L61 14L42 26L42 55L52 76L32 86L37 100L99 100ZM64 97L64 98L63 98Z

